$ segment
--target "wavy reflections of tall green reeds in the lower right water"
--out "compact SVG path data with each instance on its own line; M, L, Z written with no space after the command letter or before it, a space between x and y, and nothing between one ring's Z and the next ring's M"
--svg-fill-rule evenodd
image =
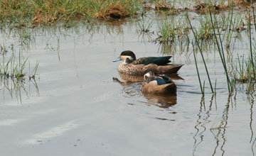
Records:
M256 142L256 133L255 133L255 123L253 122L253 106L255 102L255 95L249 95L247 97L247 103L250 104L250 115L248 114L248 117L250 118L248 127L250 128L250 138L245 138L245 140L250 143L250 148L252 155L255 155L255 142ZM214 104L215 103L215 104ZM228 143L228 131L227 130L233 130L233 128L237 128L237 124L234 124L230 118L232 118L230 111L234 111L236 109L236 97L234 96L228 96L227 102L225 106L223 106L223 111L220 112L220 118L216 118L214 111L218 111L218 107L221 107L220 105L216 104L216 96L213 95L210 99L210 103L207 104L206 99L204 96L202 96L201 99L201 105L198 109L197 114L197 120L196 120L196 126L194 126L196 133L193 135L194 143L193 143L193 155L198 155L199 151L202 151L204 147L209 147L208 145L208 137L206 136L210 134L213 135L213 139L215 140L215 143L212 149L211 155L227 155L227 152L229 151L229 145ZM208 106L207 106L208 105ZM215 105L215 106L214 106ZM245 116L247 116L245 114ZM212 118L215 118L214 120ZM230 125L228 126L228 121L231 120ZM241 121L242 122L242 121ZM247 124L245 124L247 125ZM229 129L227 129L229 128Z

